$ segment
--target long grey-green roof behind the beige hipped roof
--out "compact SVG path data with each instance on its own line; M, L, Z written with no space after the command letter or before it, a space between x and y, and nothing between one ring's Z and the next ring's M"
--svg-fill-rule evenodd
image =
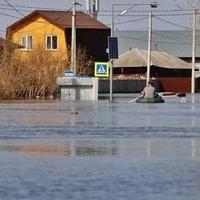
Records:
M148 31L115 31L118 37L119 53L129 49L147 49ZM200 57L200 31L196 30L196 57ZM177 57L192 57L192 31L153 30L152 49L167 51Z

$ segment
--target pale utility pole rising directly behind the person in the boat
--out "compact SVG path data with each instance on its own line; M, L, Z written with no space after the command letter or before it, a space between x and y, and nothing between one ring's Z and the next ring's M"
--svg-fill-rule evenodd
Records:
M152 39L152 13L149 13L149 35L148 35L148 60L147 60L147 81L148 85L150 80L150 67L151 67L151 39Z

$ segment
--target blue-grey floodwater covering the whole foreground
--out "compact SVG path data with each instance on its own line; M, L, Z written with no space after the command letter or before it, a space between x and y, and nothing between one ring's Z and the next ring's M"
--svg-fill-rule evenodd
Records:
M200 95L0 103L2 200L199 200Z

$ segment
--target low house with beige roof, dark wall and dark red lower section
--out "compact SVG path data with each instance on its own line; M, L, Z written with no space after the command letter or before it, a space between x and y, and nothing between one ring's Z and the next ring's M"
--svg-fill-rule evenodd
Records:
M114 74L146 80L147 50L132 49L114 62ZM191 64L164 51L151 52L150 77L157 82L160 91L190 92Z

